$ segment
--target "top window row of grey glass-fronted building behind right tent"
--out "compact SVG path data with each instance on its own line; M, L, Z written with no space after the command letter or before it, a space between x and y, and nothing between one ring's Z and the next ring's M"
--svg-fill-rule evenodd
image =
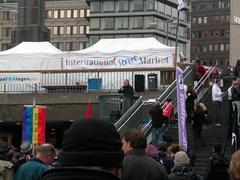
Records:
M154 0L92 1L90 9L92 13L157 11L167 16L177 17L177 9L175 7ZM180 12L180 19L183 21L186 20L186 14L184 12Z

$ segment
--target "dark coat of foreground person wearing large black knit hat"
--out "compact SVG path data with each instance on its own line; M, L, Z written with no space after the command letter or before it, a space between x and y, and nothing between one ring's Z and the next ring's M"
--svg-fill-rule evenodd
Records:
M41 180L120 180L118 177L96 169L61 167L45 172Z

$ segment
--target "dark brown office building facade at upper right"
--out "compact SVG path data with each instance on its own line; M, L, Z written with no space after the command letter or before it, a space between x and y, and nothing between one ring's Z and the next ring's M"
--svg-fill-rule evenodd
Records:
M191 60L231 64L230 0L195 0L191 7Z

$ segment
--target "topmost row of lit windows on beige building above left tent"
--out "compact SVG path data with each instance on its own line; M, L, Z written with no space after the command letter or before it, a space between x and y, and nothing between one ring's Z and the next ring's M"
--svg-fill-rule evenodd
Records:
M46 19L84 18L90 15L89 9L47 10Z

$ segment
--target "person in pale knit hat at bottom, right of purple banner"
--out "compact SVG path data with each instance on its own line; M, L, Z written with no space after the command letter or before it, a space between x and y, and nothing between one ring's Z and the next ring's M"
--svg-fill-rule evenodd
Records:
M193 168L190 165L190 159L186 152L179 151L174 157L174 168L171 174L168 176L169 180L183 180L194 179L203 180L202 176L193 172Z

